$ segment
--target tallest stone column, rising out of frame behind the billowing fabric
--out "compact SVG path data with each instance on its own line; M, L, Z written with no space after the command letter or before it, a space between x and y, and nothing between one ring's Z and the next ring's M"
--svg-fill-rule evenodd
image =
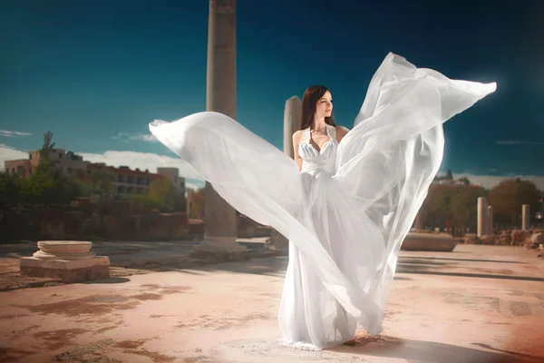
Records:
M236 118L236 0L209 0L206 109ZM236 210L206 182L204 242L193 253L245 256Z

